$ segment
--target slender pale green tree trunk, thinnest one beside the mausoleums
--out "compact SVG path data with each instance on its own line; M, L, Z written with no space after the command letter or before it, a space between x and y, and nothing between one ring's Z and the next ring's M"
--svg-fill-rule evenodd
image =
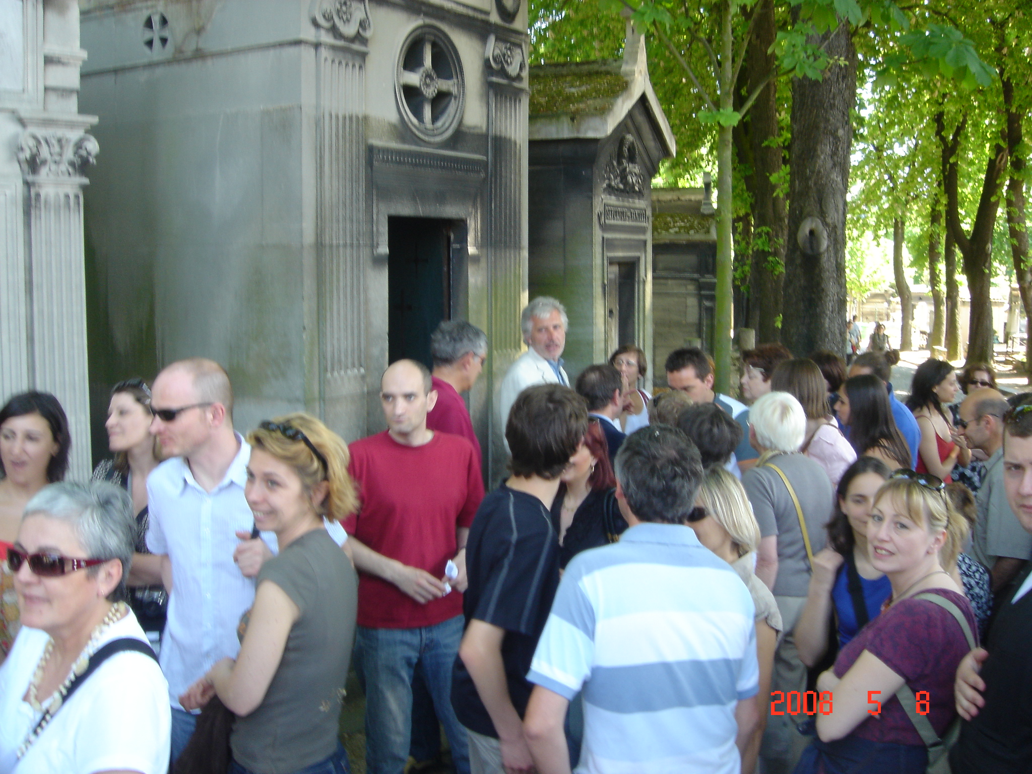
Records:
M732 78L734 38L732 19L734 6L731 0L720 4L720 72L717 87L721 110L734 107L735 84ZM731 391L734 374L731 373L731 324L733 303L732 266L732 128L720 125L716 140L716 298L713 304L713 360L716 365L714 389L717 392Z

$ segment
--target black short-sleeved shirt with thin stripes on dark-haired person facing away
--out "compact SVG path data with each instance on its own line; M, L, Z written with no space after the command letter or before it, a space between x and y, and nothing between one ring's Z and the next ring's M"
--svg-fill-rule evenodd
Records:
M526 673L559 585L558 538L541 501L505 484L484 497L470 527L465 570L465 623L476 618L506 631L502 660L509 697L522 717L534 687ZM452 706L465 728L497 738L461 656L452 673Z

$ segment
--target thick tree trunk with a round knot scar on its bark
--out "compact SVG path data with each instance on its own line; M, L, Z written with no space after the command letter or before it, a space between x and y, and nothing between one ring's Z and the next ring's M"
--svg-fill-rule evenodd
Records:
M828 56L843 64L831 65L821 80L793 80L781 341L800 356L845 349L845 206L857 52L848 25L827 36ZM813 42L819 45L827 36Z

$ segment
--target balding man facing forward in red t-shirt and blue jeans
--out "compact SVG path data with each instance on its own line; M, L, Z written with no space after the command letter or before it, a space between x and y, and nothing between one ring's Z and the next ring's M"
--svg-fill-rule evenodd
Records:
M355 669L365 691L366 771L405 769L418 667L455 771L469 774L451 670L462 638L465 540L484 496L480 464L464 438L427 428L437 393L422 363L387 368L380 400L388 429L350 447L361 505L344 522L359 571Z

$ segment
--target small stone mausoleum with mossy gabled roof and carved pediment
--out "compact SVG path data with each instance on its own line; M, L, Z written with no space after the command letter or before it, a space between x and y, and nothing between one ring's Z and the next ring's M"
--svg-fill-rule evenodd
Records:
M567 308L567 373L624 344L651 362L651 180L675 141L643 36L627 24L622 60L531 67L529 114L529 291Z

